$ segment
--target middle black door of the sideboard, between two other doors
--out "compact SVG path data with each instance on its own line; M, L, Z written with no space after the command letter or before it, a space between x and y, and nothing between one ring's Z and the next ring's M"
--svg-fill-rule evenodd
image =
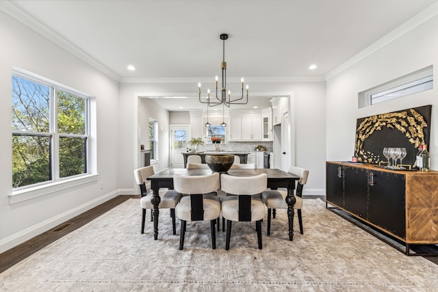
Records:
M368 171L344 167L344 206L347 211L368 219Z

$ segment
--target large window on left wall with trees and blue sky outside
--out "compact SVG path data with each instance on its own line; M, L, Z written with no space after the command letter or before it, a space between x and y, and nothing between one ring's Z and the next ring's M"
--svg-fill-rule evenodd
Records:
M88 96L14 72L14 189L88 173L88 104Z

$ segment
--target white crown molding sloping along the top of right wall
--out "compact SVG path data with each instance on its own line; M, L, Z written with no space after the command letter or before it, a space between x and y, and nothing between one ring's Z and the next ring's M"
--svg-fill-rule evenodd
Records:
M394 42L398 38L401 38L405 34L409 33L410 31L413 31L413 29L419 27L423 23L426 23L426 21L429 21L431 18L434 18L437 15L438 15L438 2L433 3L422 12L413 16L408 21L406 21L405 23L403 23L393 31L389 32L389 34L383 36L381 39L377 40L376 42L371 44L369 47L367 47L357 55L351 57L346 62L342 63L341 65L337 66L335 69L328 72L324 76L325 80L328 81L329 79L335 77L336 75L343 72L344 70L347 70L351 66L361 62L363 59L369 57L373 53L376 53L376 51L382 49L383 47L386 47L391 42Z

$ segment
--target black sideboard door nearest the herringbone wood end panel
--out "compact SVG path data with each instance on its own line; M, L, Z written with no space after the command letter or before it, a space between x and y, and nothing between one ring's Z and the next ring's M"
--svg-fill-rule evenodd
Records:
M368 221L405 238L405 176L391 172L372 172Z

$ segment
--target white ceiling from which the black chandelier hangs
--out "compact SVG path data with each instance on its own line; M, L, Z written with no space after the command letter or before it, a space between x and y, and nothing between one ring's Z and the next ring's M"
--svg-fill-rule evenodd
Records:
M436 0L10 1L122 83L324 76ZM309 70L311 64L318 68ZM136 70L127 70L133 65ZM204 90L204 88L203 88ZM206 88L205 88L206 90ZM160 99L160 101L162 101ZM181 98L165 102L177 109ZM173 107L170 107L172 105Z

